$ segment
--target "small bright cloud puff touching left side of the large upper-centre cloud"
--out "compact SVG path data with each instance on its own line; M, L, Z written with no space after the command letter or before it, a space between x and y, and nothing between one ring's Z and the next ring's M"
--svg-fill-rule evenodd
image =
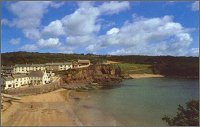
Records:
M52 21L48 26L44 27L43 33L49 36L60 36L65 34L60 20Z

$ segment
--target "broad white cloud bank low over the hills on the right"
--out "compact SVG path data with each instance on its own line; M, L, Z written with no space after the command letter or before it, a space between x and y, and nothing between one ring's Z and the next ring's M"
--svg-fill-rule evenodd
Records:
M105 45L120 47L111 54L145 55L185 55L193 41L189 30L174 22L171 16L138 18L102 39Z

